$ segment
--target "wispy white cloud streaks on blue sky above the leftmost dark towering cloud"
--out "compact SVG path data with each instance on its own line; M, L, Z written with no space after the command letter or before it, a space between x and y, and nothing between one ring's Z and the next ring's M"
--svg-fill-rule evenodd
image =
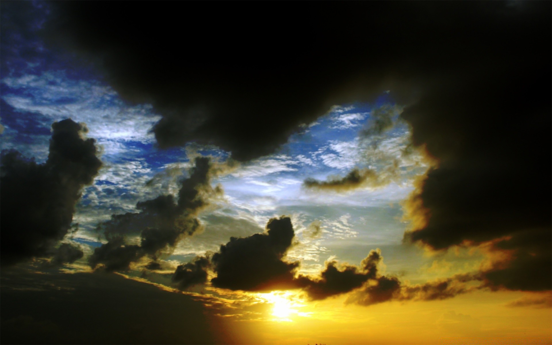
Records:
M66 118L84 122L88 136L97 139L108 155L125 151L126 141L155 140L149 131L161 116L152 114L151 105L127 105L112 88L99 82L71 80L63 71L8 77L1 82L15 91L25 91L25 96L7 92L2 97L16 110L45 116L45 127Z

